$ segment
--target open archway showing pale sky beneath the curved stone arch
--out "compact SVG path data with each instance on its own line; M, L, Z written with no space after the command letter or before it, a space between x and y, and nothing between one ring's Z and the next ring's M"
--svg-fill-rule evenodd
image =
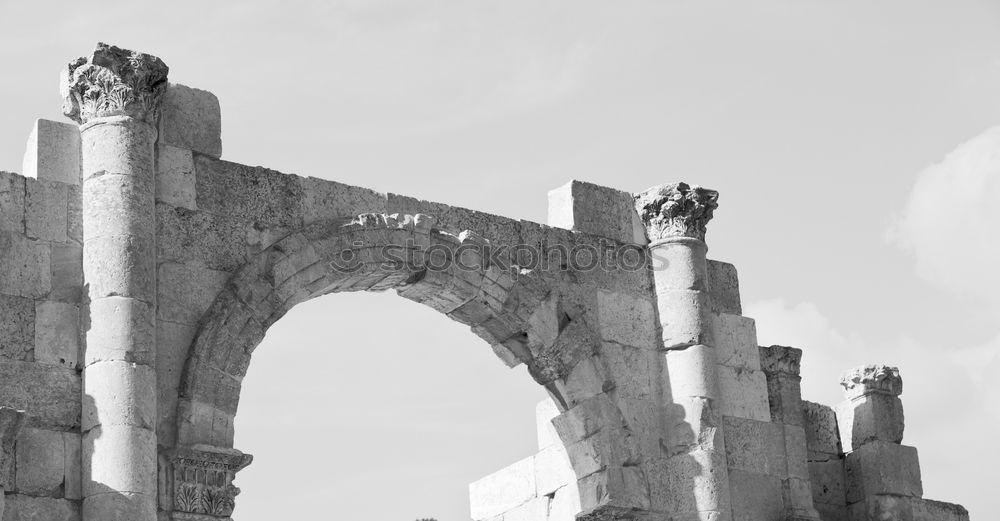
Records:
M387 326L366 329L373 314ZM468 484L537 451L533 410L546 397L481 344L392 294L296 306L243 382L235 446L254 462L236 480L233 518L358 518L374 506L386 519L469 519Z

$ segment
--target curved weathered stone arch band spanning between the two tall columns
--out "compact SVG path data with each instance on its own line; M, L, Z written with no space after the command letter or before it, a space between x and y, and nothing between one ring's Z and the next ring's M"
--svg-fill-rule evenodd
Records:
M474 232L435 228L426 215L362 214L308 225L258 253L201 321L179 390L173 451L238 454L233 421L242 378L267 329L293 306L328 293L394 289L469 325L508 366L527 365L559 407L553 423L579 485L587 480L596 491L581 489L581 506L607 507L609 482L624 486L622 467L635 470L639 449L604 394L613 378L600 361L592 310L565 303L564 292L580 291L565 270L512 272L486 256L488 244Z

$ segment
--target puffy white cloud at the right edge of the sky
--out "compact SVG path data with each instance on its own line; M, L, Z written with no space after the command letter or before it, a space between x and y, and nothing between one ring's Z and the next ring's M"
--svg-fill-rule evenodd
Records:
M921 172L889 237L927 281L1000 305L1000 127Z

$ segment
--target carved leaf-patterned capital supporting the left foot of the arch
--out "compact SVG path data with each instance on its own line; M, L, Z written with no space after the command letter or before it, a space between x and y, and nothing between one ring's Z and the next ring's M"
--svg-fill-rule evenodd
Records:
M169 471L164 485L172 497L174 519L224 519L232 515L240 493L233 479L253 456L235 449L193 445L177 447L167 457Z

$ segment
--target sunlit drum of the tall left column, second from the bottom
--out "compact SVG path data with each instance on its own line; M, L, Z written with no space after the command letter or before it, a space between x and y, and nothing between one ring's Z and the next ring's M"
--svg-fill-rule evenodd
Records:
M156 439L129 426L97 427L83 435L83 496L132 492L156 496Z

